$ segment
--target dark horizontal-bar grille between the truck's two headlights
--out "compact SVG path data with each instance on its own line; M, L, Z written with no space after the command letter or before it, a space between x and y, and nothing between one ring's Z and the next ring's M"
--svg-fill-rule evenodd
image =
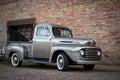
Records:
M97 49L85 49L84 58L86 60L97 60L98 59Z

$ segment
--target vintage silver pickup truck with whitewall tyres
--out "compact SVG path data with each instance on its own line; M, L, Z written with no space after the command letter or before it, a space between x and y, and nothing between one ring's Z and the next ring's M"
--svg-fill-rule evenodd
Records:
M4 37L0 32L0 36ZM64 71L69 65L80 64L87 70L101 61L101 49L91 39L73 38L70 29L60 25L38 24L33 30L33 38L25 41L9 41L1 47L0 54L10 58L14 67L23 61L42 64L56 63L58 70ZM22 33L21 33L22 35Z

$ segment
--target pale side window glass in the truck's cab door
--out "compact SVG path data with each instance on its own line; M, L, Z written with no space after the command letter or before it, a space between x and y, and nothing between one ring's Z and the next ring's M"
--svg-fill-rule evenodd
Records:
M37 29L36 36L37 37L49 37L50 36L50 31L46 27L39 27Z

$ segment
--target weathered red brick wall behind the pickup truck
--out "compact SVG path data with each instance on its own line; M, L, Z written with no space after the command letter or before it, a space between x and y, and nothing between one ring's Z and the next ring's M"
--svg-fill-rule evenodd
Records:
M92 38L102 48L103 63L120 64L119 0L20 0L0 6L0 23L36 18L74 28L78 38Z

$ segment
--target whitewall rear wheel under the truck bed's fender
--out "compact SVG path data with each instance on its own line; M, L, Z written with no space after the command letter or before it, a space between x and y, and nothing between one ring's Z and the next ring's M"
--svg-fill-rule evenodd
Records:
M13 67L19 67L22 65L22 61L20 61L20 57L17 53L13 53L11 56L11 64Z

